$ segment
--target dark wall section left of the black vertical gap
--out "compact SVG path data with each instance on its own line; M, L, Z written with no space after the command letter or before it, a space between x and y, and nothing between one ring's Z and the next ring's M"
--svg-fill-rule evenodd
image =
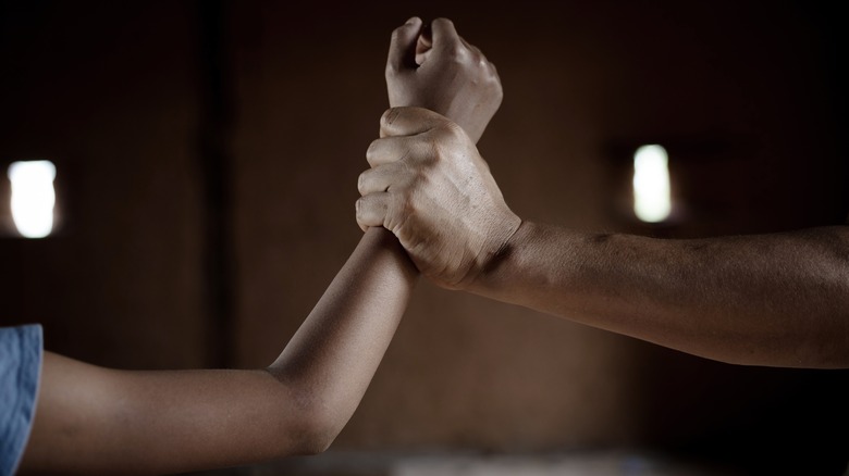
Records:
M0 163L52 160L60 208L54 237L0 241L2 318L44 323L48 348L205 363L195 10L2 3Z

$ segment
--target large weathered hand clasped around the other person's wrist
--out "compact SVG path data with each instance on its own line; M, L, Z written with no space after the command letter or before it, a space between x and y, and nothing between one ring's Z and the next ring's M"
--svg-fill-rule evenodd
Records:
M439 286L468 287L521 220L463 127L423 108L392 108L359 176L357 223L382 226Z

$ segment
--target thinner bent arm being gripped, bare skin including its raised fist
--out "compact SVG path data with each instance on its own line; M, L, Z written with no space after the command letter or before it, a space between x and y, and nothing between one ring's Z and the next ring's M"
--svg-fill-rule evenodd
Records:
M501 103L501 83L482 55L465 53L453 25L433 26L421 42L419 18L393 33L386 82L390 90L403 82L406 93L390 93L390 104L456 114L479 137ZM421 66L403 64L417 49ZM458 93L429 86L441 72ZM324 451L359 405L417 277L392 234L368 229L266 368L120 371L45 352L20 473L182 473Z

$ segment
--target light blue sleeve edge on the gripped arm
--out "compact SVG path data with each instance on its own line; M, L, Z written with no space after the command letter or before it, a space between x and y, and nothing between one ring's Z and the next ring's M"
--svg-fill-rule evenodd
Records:
M0 327L0 476L15 473L35 416L41 325Z

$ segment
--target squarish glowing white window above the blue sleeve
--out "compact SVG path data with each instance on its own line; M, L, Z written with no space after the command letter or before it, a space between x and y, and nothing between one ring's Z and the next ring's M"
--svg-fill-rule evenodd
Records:
M21 236L45 238L53 230L56 165L50 161L22 161L9 165L12 220Z

